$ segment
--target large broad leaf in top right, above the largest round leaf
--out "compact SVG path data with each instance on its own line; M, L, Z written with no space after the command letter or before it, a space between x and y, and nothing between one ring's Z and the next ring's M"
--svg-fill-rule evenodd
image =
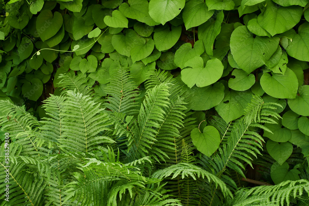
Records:
M269 1L265 11L257 17L257 22L274 36L293 28L302 14L303 9L300 6L276 6L273 1Z

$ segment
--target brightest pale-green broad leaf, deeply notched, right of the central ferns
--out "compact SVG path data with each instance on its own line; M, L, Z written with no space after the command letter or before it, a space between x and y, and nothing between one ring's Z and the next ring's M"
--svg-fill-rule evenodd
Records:
M218 59L208 60L204 67L202 57L193 57L184 66L191 68L181 70L181 80L190 88L195 84L198 87L203 87L217 82L222 77L224 68Z

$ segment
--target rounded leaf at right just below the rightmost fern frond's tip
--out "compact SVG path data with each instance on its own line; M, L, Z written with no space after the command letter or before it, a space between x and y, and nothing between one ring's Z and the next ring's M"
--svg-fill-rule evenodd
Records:
M265 127L269 128L269 130L272 131L273 134L264 130L264 136L268 137L269 139L275 142L289 141L292 135L291 130L285 127L281 128L282 127L281 119L279 120L274 119L274 120L277 122L277 124L265 123Z

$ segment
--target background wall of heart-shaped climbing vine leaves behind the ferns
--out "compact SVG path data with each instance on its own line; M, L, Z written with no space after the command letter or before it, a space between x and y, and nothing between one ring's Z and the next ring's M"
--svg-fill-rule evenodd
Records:
M2 0L0 99L44 117L41 101L60 94L59 74L89 76L104 98L115 60L141 91L148 70L169 70L188 86L199 122L239 118L252 94L282 104L282 121L264 132L264 178L296 180L309 161L308 2Z

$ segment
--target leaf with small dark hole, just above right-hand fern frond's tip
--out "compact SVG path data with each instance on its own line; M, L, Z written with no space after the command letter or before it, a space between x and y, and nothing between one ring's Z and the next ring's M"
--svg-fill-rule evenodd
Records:
M252 92L225 89L224 98L214 108L226 123L236 120L244 114L244 108L251 102Z

